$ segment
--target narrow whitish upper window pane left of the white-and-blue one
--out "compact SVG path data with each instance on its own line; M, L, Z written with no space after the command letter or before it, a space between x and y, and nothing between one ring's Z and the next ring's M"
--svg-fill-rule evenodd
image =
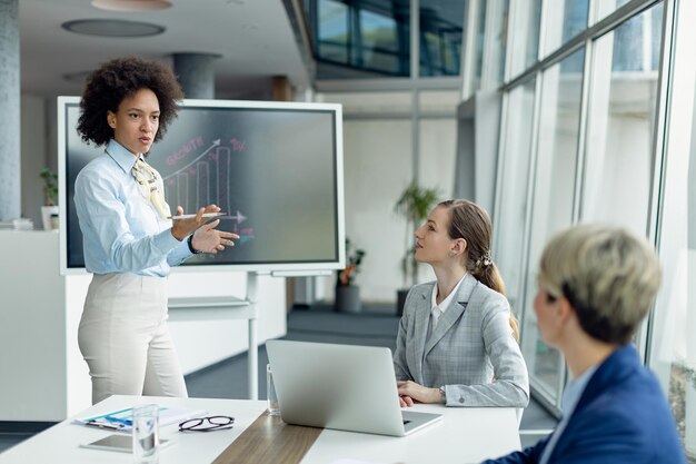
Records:
M519 0L513 17L510 77L521 73L535 63L539 51L541 0Z

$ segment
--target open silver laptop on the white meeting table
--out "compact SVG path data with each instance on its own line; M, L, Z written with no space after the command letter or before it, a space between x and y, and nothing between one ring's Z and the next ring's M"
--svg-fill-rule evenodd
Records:
M288 424L404 436L443 418L401 411L389 348L268 340L266 349Z

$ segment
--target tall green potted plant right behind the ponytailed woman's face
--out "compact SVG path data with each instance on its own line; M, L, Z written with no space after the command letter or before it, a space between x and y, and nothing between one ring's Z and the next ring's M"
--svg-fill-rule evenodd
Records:
M418 279L418 263L416 261L416 244L414 231L426 220L428 213L439 198L439 190L420 187L415 180L411 181L394 206L394 210L406 219L406 251L401 258L401 272L404 287L397 290L397 314L404 314L404 303L408 289L416 285Z

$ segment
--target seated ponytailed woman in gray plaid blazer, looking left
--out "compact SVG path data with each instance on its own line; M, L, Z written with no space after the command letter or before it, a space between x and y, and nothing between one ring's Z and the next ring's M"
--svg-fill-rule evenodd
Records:
M401 407L527 406L527 366L490 258L491 230L488 213L467 200L440 203L416 230L416 259L437 280L406 297L394 354Z

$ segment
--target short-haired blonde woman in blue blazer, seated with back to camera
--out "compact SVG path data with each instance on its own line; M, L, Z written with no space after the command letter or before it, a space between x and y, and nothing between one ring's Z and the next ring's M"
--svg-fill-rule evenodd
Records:
M487 464L686 463L665 394L630 343L659 280L653 247L624 229L583 225L551 238L534 310L574 379L550 436Z

